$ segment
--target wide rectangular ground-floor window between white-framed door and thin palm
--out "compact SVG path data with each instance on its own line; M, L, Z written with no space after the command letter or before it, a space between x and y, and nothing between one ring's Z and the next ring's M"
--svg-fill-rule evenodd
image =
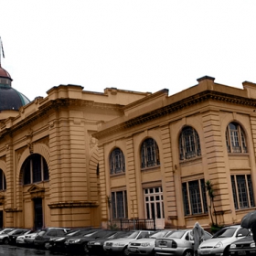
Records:
M208 212L205 180L199 179L182 183L185 215Z

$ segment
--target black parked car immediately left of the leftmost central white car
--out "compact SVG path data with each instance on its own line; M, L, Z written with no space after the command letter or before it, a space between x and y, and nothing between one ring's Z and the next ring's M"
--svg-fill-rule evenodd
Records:
M106 237L104 239L98 239L98 240L91 240L88 242L88 254L89 255L103 255L105 254L105 251L103 249L103 244L106 240L114 240L114 239L121 239L121 238L127 238L133 233L133 231L117 231L114 234L111 234L109 237Z

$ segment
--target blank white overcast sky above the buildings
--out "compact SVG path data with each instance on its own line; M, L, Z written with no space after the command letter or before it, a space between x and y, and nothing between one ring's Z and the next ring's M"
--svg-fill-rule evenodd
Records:
M30 101L59 84L169 94L256 83L256 1L0 0L1 64Z

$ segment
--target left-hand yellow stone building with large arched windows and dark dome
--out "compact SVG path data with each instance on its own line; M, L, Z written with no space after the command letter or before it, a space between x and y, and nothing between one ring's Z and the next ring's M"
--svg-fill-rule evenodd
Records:
M59 85L46 98L12 88L0 66L0 226L101 226L98 124L149 92Z

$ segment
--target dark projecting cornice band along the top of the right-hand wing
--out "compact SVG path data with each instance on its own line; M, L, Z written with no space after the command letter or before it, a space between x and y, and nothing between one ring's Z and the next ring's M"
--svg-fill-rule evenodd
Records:
M126 122L119 123L110 128L107 128L101 132L93 133L93 136L97 139L101 139L105 136L111 135L113 133L118 133L124 129L129 129L133 126L148 123L152 120L161 118L170 113L178 112L180 110L186 109L187 107L196 105L197 103L203 101L222 101L237 105L245 105L250 107L256 107L256 100L249 99L245 97L240 97L237 95L231 95L219 91L202 91L181 101L176 101L174 103L168 104L165 107L161 107L152 112L146 112L140 116L134 117Z

